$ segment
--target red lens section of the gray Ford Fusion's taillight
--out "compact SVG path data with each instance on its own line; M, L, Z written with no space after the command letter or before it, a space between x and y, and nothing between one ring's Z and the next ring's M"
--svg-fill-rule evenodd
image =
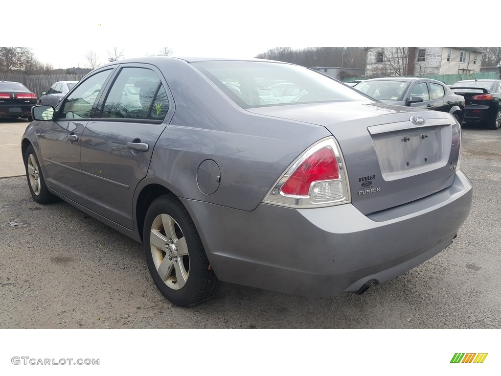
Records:
M308 196L314 181L339 178L334 151L324 147L310 155L282 185L281 192L291 196Z

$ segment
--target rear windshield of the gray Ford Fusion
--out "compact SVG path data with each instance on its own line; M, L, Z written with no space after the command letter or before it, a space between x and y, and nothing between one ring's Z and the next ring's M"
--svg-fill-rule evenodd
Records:
M368 99L330 77L291 64L205 61L193 66L243 108Z

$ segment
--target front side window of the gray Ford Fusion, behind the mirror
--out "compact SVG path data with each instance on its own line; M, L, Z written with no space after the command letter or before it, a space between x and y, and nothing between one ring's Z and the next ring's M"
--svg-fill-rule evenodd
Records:
M96 102L97 96L110 73L111 69L101 71L83 81L80 86L66 98L61 117L67 119L90 117L94 102Z

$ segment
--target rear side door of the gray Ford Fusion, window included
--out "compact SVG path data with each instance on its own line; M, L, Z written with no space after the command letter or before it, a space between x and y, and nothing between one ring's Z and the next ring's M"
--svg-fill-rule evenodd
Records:
M129 229L134 227L134 191L146 176L166 114L173 111L161 77L149 65L121 66L101 114L88 122L82 134L85 206ZM126 85L139 95L129 95Z

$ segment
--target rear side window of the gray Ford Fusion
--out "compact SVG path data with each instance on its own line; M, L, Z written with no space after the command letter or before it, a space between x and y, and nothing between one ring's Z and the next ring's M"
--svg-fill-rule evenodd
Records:
M169 109L158 75L146 68L123 68L108 94L103 118L163 120Z

